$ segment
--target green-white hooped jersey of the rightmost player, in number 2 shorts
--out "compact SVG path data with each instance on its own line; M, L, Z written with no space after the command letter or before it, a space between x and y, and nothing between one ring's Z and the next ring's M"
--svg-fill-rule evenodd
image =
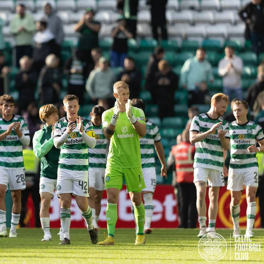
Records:
M239 125L233 121L229 125L231 159L229 168L244 169L258 167L256 152L248 152L247 148L256 145L256 140L264 139L260 125L253 121Z

